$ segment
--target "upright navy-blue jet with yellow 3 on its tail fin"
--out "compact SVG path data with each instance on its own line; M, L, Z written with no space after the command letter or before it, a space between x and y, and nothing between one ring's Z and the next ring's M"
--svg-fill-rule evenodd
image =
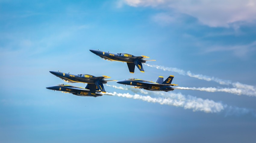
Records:
M134 88L139 89L168 92L174 90L172 86L177 86L177 84L171 84L173 77L173 75L170 75L166 80L164 80L164 77L159 76L156 82L129 78L127 80L117 81L117 83L134 86Z

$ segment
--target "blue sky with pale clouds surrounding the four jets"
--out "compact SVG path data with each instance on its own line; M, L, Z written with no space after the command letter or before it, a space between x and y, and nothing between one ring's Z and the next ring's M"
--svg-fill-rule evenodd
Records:
M1 0L0 142L254 142L255 14L250 0ZM146 65L130 74L89 49L145 55L193 75ZM45 89L64 83L48 72L58 70L112 80L174 75L180 87L242 93L144 94L110 82L129 90L105 85L121 97L80 97ZM198 79L206 76L230 84ZM122 97L136 94L147 100Z

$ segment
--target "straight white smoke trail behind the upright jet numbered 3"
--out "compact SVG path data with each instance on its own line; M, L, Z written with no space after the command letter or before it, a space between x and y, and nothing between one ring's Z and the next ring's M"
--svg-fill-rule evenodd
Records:
M183 90L199 90L199 91L206 91L206 92L227 92L236 95L241 95L242 90L236 88L215 88L215 87L176 87L175 89L183 89Z

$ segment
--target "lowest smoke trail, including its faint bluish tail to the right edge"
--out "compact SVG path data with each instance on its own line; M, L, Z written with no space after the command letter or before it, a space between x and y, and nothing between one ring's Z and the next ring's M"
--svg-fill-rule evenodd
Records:
M158 103L161 105L170 105L175 107L183 107L184 109L192 109L195 111L202 111L205 113L218 113L222 111L226 111L226 116L229 115L245 115L251 114L256 117L256 114L253 109L247 108L239 108L228 106L226 104L222 104L221 102L215 102L209 99L202 99L197 98L191 95L182 95L181 93L165 93L163 94L164 97L151 97L151 96L143 96L139 94L131 95L130 93L117 93L117 92L107 92L108 95L114 95L118 97L125 97L125 98L133 98L139 99L151 103Z

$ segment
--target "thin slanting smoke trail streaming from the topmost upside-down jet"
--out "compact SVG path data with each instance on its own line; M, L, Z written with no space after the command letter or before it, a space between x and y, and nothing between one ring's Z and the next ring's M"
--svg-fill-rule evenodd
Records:
M225 89L223 89L223 92L229 92L229 93L233 93L233 94L237 94L237 95L243 94L243 95L255 96L256 97L256 87L251 86L251 85L242 84L242 83L239 83L239 82L232 83L230 80L223 80L223 79L219 79L219 78L216 78L216 77L209 77L209 76L202 75L202 74L193 74L190 71L186 72L183 69L178 69L178 68L170 68L170 67L164 67L164 66L158 66L158 65L149 65L149 64L145 64L145 65L156 68L156 69L161 69L161 70L164 70L164 71L176 72L178 74L187 75L187 76L194 77L194 78L197 78L197 79L200 79L200 80L214 81L214 82L219 83L221 85L232 85L236 89L225 88Z

